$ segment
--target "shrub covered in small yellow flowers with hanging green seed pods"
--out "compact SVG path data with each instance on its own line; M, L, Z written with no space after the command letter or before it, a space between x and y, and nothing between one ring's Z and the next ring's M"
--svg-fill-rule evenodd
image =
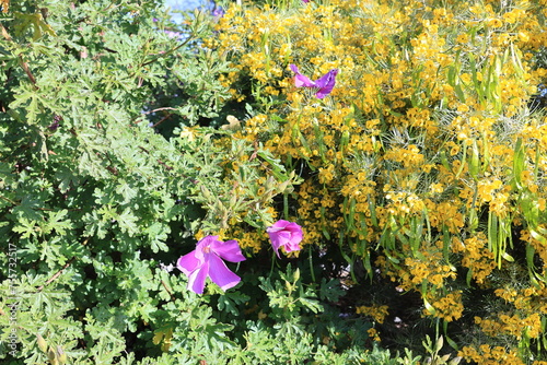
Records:
M341 249L419 293L449 332L466 320L482 335L461 355L480 364L546 350L547 118L534 96L547 79L546 4L233 4L206 44L232 60L222 82L252 106L226 139L265 145L302 178L271 216L299 222L303 245ZM338 69L336 86L321 99L295 87L291 63L311 80ZM266 245L229 229L243 247ZM474 316L476 297L504 310ZM387 307L365 302L357 313L382 322Z

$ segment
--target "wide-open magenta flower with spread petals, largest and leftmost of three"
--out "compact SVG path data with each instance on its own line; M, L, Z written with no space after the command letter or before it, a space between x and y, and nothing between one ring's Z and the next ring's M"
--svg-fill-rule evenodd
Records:
M177 268L188 276L188 290L202 294L207 276L223 291L235 286L241 278L234 274L222 260L244 261L235 239L222 242L219 236L207 236L198 242L196 249L177 261Z

